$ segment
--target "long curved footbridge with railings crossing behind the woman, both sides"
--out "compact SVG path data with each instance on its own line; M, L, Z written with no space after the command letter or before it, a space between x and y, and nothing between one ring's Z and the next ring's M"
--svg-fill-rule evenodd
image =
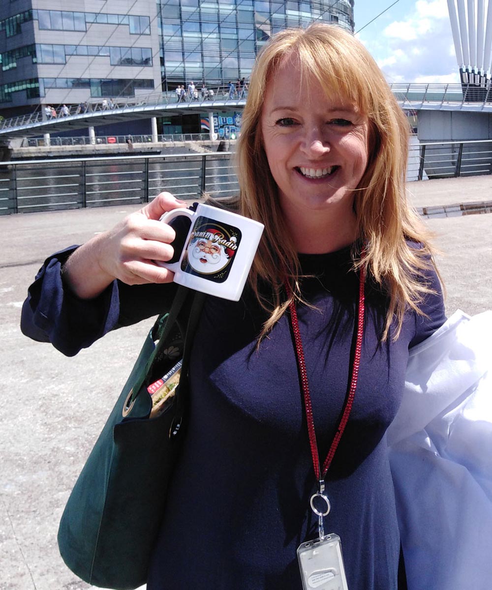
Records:
M475 84L392 84L391 89L403 110L444 111L492 114L492 87ZM172 116L185 113L214 113L241 110L245 96L218 89L213 96L198 95L177 100L175 93L151 93L129 98L91 100L84 105L58 107L47 114L43 107L37 112L0 122L0 139L35 137L45 133L87 129L99 125L135 119ZM111 108L110 108L111 106ZM450 139L450 138L448 138ZM478 139L478 138L477 138Z

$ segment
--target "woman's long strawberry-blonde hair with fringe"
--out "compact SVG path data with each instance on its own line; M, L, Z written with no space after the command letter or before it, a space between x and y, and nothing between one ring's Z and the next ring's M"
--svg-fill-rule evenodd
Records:
M302 300L299 288L298 256L276 197L263 149L260 117L268 81L282 58L295 54L302 79L316 80L327 95L343 97L356 104L369 119L369 161L356 191L354 210L358 240L365 244L363 259L353 253L354 267L364 266L389 296L386 326L396 319L399 335L406 309L422 313L419 304L431 292L419 280L429 267L431 249L418 215L406 201L405 173L408 157L409 124L390 90L382 71L366 48L349 32L336 25L312 24L305 30L287 29L269 40L259 53L249 83L237 144L239 213L265 224L262 242L249 281L256 297L271 316L260 339L287 309L285 281L292 297ZM280 238L282 237L282 238ZM412 248L407 240L421 242ZM420 273L419 273L420 271ZM261 293L260 283L272 287L273 300Z

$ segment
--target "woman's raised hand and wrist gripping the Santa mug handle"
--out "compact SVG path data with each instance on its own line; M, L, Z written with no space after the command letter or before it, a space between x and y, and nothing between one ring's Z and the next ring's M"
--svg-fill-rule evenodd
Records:
M159 218L185 205L171 193L161 192L111 230L77 248L64 266L64 282L82 299L96 297L115 278L129 285L170 283L174 273L154 261L172 258L175 232Z

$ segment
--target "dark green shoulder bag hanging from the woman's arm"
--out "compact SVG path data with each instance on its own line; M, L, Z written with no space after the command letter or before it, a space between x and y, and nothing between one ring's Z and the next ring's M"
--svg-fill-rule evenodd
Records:
M67 501L58 547L71 571L89 584L123 590L146 582L183 440L188 363L204 297L178 286L170 312L159 316L146 337ZM149 418L148 385L180 358L180 383L171 404Z

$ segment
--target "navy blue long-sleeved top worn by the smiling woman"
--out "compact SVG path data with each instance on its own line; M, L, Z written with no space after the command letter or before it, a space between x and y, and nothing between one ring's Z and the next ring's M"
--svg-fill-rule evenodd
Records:
M24 304L22 330L74 354L113 327L157 313L173 286L115 281L82 301L64 290L48 259ZM321 461L340 420L350 379L358 278L350 248L300 255L298 306ZM406 314L399 338L380 343L387 300L366 284L366 322L355 401L326 477L331 512L325 532L341 537L348 588L398 586L400 537L386 454L386 428L400 404L408 350L445 321L436 294L426 316ZM84 320L80 319L84 317ZM151 561L148 590L301 590L301 542L317 536L307 424L288 317L256 348L266 319L252 293L238 302L208 297L191 356L191 415ZM77 324L77 325L74 325Z

